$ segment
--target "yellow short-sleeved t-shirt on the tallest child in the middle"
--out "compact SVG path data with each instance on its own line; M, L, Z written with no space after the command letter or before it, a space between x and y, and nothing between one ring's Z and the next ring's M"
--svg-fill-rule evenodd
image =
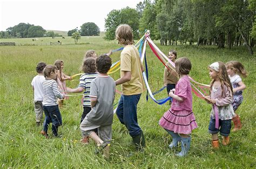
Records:
M140 94L145 90L138 49L134 45L126 45L121 53L121 77L124 76L123 71L131 72L131 80L122 84L124 95Z

